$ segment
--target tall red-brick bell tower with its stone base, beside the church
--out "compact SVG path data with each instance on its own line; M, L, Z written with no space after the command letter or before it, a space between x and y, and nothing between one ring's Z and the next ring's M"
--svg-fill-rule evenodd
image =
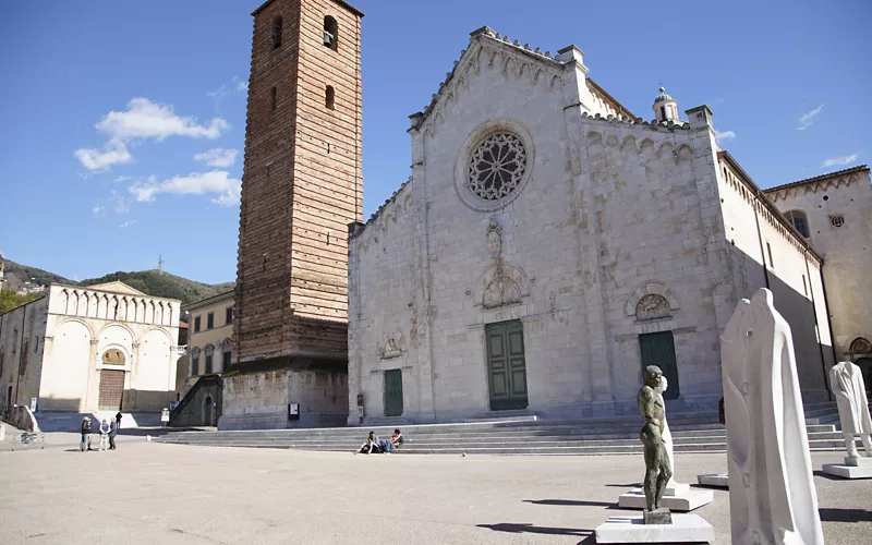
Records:
M347 226L363 219L363 13L341 0L268 0L252 15L234 346L219 426L331 425L325 414L348 411ZM301 384L310 390L299 393ZM288 415L298 403L299 420Z

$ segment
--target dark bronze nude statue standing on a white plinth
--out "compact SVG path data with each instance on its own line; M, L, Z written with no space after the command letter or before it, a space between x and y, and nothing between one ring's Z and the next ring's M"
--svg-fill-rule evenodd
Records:
M662 378L663 371L659 367L656 365L645 367L645 384L640 388L635 398L639 403L639 411L645 421L639 438L645 448L645 481L643 489L645 492L646 508L644 520L646 524L671 523L671 516L668 509L661 509L663 494L666 492L666 485L673 476L671 463L669 456L666 453L666 445L663 441L666 410L663 405L663 398L656 391Z

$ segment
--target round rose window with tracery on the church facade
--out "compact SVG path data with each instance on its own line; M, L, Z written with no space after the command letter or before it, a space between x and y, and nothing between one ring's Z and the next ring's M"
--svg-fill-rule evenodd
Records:
M526 169L526 152L520 140L497 133L484 140L472 153L469 187L486 201L497 201L518 187Z

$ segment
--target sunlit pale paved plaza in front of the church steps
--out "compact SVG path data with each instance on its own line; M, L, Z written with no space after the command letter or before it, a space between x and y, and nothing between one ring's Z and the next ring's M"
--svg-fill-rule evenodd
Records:
M146 433L140 431L138 433ZM76 434L0 452L0 543L593 544L640 456L363 456L209 448L121 436L112 452ZM872 535L872 480L822 475L843 452L812 452L828 544ZM677 477L726 471L723 453L677 455ZM728 545L729 499L694 511Z

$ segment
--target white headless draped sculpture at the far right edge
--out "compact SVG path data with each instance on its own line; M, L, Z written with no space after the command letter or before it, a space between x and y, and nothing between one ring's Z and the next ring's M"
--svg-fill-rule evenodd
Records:
M863 375L851 362L839 362L829 370L829 386L836 395L838 417L849 458L859 458L855 437L860 436L867 457L872 457L872 419L869 416L869 400L865 396Z

